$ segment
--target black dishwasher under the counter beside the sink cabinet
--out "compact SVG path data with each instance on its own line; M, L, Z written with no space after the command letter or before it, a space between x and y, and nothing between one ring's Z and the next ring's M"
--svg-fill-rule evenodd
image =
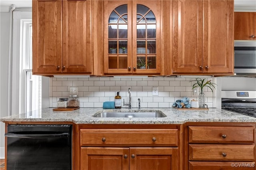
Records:
M72 170L72 125L8 125L6 170Z

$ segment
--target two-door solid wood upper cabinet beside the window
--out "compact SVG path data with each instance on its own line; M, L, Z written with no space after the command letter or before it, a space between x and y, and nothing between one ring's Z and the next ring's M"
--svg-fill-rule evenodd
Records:
M33 74L91 74L91 1L32 3Z

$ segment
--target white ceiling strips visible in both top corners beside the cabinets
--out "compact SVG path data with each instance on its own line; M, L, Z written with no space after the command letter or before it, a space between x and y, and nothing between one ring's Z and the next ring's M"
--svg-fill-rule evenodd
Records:
M32 7L32 0L0 0L0 6L15 5L16 8ZM256 0L234 0L235 6L255 6Z

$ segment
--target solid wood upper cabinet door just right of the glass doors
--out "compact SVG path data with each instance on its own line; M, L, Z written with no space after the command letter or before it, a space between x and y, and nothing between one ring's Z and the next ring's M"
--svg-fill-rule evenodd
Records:
M202 73L203 1L174 1L174 73Z

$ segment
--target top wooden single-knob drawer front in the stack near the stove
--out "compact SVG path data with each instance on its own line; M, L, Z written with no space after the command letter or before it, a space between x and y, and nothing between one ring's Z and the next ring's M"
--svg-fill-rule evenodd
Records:
M254 127L188 127L189 143L254 143Z

